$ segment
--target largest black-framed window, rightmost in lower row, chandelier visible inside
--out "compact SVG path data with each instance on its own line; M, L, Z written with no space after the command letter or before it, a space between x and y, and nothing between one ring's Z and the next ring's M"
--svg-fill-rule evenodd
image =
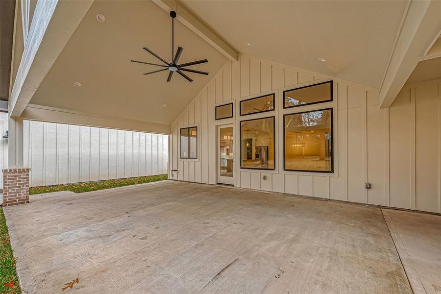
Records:
M286 114L284 170L333 172L332 109Z

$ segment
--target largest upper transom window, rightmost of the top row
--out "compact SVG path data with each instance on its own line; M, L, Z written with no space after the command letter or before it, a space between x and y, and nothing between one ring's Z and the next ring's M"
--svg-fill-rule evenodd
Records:
M283 92L283 108L332 101L332 81Z

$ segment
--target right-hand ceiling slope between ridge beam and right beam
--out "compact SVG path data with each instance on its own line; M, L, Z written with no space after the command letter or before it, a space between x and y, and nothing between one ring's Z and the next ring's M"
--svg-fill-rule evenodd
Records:
M401 0L183 3L241 53L374 88L406 5Z

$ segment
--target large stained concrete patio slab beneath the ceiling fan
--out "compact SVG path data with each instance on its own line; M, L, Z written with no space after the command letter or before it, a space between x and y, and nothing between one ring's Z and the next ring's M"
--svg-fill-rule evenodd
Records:
M29 293L412 293L378 207L162 181L5 214Z

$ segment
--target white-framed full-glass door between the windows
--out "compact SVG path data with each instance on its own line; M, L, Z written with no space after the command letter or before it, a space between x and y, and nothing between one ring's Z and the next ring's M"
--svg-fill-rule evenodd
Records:
M234 184L233 125L218 127L218 183Z

